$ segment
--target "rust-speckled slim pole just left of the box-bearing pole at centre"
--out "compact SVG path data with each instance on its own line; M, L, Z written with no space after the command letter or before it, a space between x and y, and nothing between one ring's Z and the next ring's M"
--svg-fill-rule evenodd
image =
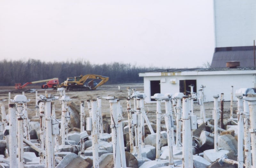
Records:
M132 129L132 110L131 110L131 100L127 99L127 117L128 117L128 129L129 129L129 141L130 141L130 152L133 152L133 129Z

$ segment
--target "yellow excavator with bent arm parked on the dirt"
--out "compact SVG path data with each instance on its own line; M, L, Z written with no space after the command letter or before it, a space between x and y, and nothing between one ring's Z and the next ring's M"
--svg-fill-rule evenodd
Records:
M90 81L88 81L91 79ZM96 83L94 80L101 80L99 83ZM88 82L87 82L88 81ZM108 77L95 75L95 74L87 74L87 75L80 75L72 78L67 78L66 81L61 83L58 88L66 88L67 90L71 91L84 91L84 90L95 90L96 88L100 87L104 83L108 81Z

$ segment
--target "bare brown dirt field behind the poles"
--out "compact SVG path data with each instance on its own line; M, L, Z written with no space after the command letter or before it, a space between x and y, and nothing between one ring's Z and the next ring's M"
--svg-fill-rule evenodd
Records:
M127 113L126 111L126 99L128 97L128 92L127 92L127 87L134 88L140 93L143 93L143 83L140 84L123 84L120 85L120 90L118 90L118 85L103 85L100 88L97 88L97 90L93 91L70 91L66 92L66 95L69 96L72 99L72 102L75 103L79 108L80 108L80 102L81 101L87 101L87 100L92 100L92 99L97 99L98 96L103 97L103 96L108 96L108 95L114 95L117 98L120 99L121 106L123 107L123 117L124 120L127 119ZM30 102L28 102L28 115L29 118L35 117L35 93L29 93L27 92L29 89L37 89L38 90L38 95L44 94L45 89L41 89L39 86L34 87L34 86L27 86L24 89L15 89L13 87L0 87L0 99L6 99L5 101L5 108L6 108L6 113L8 109L8 93L11 92L11 99L14 98L15 95L17 94L22 94L22 92L25 92L25 95L27 96L28 99L31 99ZM60 96L59 93L57 93L56 90L52 89L46 89L48 94L53 94L55 96ZM207 95L210 96L210 95ZM236 118L236 99L234 99L233 107L234 107L234 112L233 112L233 117ZM219 108L220 108L220 102ZM86 103L85 103L86 105ZM150 121L156 121L156 103L147 103L145 102L145 107L147 108L146 113L148 115L148 118ZM212 109L213 109L213 102L205 102L204 103L205 107L205 112L206 112L206 117L211 118L212 116ZM132 101L132 108L133 108L133 101ZM85 106L86 109L86 115L88 116L88 110L87 110L87 105ZM161 109L162 113L165 113L165 107L164 103L161 104ZM60 101L56 100L55 101L55 110L56 110L56 117L57 119L61 118L61 104ZM102 99L102 114L104 115L104 119L110 122L110 110L109 110L109 102L108 100ZM197 102L194 103L194 114L197 115L198 117L200 116L200 106L197 104ZM230 101L224 102L224 118L229 118L230 117ZM164 121L164 118L163 118Z

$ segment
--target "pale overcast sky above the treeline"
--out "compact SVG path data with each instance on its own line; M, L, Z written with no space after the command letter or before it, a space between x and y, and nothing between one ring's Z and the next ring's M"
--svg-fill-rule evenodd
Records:
M192 68L213 51L212 0L0 3L0 60Z

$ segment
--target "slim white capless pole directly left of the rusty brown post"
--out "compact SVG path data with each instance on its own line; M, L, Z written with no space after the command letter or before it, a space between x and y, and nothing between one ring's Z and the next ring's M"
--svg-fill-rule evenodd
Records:
M219 95L214 95L214 151L218 152L218 98Z

